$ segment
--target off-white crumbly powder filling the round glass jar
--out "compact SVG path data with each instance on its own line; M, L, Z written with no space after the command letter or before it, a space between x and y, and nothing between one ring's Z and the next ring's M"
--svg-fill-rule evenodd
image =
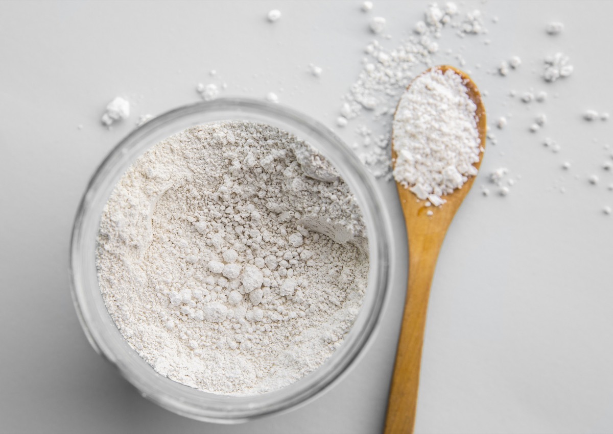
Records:
M343 341L368 256L356 198L274 127L208 124L145 152L97 239L99 285L156 372L219 394L287 386Z

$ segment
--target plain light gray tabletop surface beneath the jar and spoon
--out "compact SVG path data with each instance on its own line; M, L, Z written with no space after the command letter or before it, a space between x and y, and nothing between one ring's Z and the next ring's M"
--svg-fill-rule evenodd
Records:
M393 47L425 3L375 1ZM487 13L490 45L464 45L465 69L489 91L496 132L475 190L452 223L432 288L416 430L420 433L613 432L611 122L587 124L586 108L613 111L606 69L612 2L466 2ZM279 7L274 26L265 13ZM291 413L238 426L161 410L89 347L69 294L72 218L94 168L139 114L197 100L216 69L226 95L281 102L333 125L340 97L371 39L359 2L0 2L0 431L373 433L381 430L404 297L406 247L394 185L381 182L399 242L392 295L367 353L340 382ZM492 24L490 17L500 17ZM550 20L565 23L556 38ZM544 54L571 56L573 77L539 79ZM513 54L522 69L487 73ZM453 62L441 54L440 62ZM307 65L324 67L320 80ZM476 69L476 64L481 69ZM544 106L508 97L546 89ZM283 88L283 92L281 91ZM129 121L99 125L115 95ZM527 132L547 114L546 130ZM82 124L83 130L77 125ZM348 140L349 131L342 131ZM541 146L550 135L560 154ZM595 140L596 141L595 141ZM573 163L570 173L560 164ZM522 178L507 198L479 194L487 172ZM602 182L587 184L589 174ZM579 179L574 179L574 174ZM562 194L556 187L564 185Z

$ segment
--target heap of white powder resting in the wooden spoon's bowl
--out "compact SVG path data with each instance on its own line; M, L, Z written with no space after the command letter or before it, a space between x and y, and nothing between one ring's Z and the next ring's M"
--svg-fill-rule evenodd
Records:
M419 199L442 204L441 196L476 175L476 110L454 71L433 69L417 77L400 98L392 124L396 181Z

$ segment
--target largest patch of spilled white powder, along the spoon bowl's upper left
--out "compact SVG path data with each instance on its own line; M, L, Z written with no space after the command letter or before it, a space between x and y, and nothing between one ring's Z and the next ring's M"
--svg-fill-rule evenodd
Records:
M441 32L455 29L460 37L470 34L471 39L487 32L482 26L481 13L462 15L453 2L428 6L424 18L413 29L414 34L395 48L383 47L378 40L368 43L364 48L363 69L341 103L340 114L348 122L359 122L361 126L370 118L368 123L373 127L368 132L369 144L358 147L356 153L377 178L391 178L389 131L395 108L411 80L434 65L433 54L440 50L436 39L441 37ZM452 51L448 49L446 54ZM464 63L462 56L455 57L458 64ZM359 140L365 141L365 137Z

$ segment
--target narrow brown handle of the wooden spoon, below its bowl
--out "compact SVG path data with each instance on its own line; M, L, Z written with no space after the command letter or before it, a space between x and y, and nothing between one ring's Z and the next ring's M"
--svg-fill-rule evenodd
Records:
M436 259L446 232L446 228L443 231L436 231L413 226L411 223L414 220L406 219L409 240L409 279L387 405L385 434L413 433L428 297Z

